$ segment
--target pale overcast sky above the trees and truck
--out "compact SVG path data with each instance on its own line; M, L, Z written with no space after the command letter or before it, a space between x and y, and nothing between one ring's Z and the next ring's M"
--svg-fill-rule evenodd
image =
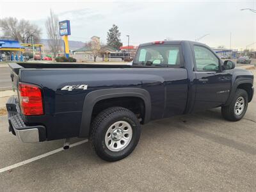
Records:
M116 24L121 40L139 45L155 40L196 40L210 47L256 49L254 1L13 1L0 0L0 19L27 19L42 29L50 10L59 20L70 20L69 40L87 42L93 35L106 43L108 29ZM231 33L231 35L230 35ZM253 44L255 42L255 44ZM250 45L252 44L252 45Z

